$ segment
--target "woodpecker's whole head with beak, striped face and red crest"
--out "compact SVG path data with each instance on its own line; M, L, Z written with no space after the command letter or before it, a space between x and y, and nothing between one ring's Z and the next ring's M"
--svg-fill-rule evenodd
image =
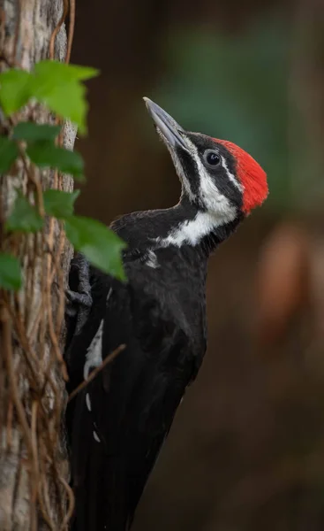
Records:
M144 100L170 151L183 196L200 211L218 224L230 223L264 201L267 176L248 153L232 142L185 131L159 105Z

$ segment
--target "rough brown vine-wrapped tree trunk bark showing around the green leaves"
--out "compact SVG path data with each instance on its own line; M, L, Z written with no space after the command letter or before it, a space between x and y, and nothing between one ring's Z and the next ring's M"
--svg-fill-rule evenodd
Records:
M63 0L0 0L1 69L30 70L49 58L49 42L62 18ZM64 61L67 38L60 27L54 57ZM39 123L54 117L33 104L24 116ZM4 116L0 110L0 128ZM75 131L64 125L64 146ZM42 234L8 236L4 219L16 189L41 197L41 189L72 190L57 172L16 165L0 177L0 250L22 259L24 288L13 296L0 290L0 529L67 529L72 495L62 428L66 403L61 358L64 288L72 256L62 226L49 219ZM32 177L32 179L31 179Z

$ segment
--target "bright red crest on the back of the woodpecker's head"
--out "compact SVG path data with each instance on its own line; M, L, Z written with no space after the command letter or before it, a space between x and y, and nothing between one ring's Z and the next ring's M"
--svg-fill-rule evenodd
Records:
M236 144L227 140L214 139L221 143L237 161L237 178L241 182L243 192L243 212L249 213L260 206L267 197L267 174L254 158Z

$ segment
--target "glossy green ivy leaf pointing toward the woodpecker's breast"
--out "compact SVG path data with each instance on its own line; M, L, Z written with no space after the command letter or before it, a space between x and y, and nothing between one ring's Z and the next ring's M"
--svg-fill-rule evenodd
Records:
M72 216L65 220L65 232L73 247L95 267L125 280L121 250L126 244L112 230L95 219Z

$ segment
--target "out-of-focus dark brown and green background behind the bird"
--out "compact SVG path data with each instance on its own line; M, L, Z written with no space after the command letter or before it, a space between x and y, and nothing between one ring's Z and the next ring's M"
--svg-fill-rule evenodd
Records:
M78 0L72 62L92 65L87 184L109 223L177 203L142 96L229 139L270 195L217 250L209 342L134 531L324 528L324 1Z

